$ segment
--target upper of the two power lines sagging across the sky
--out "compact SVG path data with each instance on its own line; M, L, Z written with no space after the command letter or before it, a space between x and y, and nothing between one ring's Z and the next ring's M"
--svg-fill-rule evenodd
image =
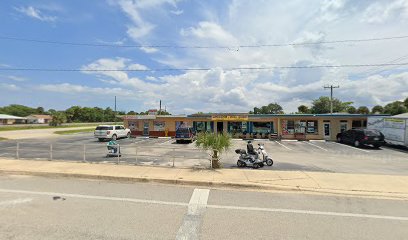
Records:
M360 43L360 42L373 42L373 41L385 41L385 40L398 40L406 39L408 35L391 36L381 38L364 38L364 39L344 39L344 40L332 40L332 41L317 41L317 42L299 42L299 43L280 43L280 44L254 44L254 45L229 45L229 46L198 46L198 45L124 45L124 44L107 44L107 43L86 43L86 42L65 42L54 40L41 40L31 38L19 38L10 36L0 36L0 40L11 40L21 42L33 42L42 44L55 44L55 45L70 45L70 46L83 46L83 47L117 47L117 48L175 48L175 49L237 49L237 48L262 48L262 47L287 47L287 46L308 46L318 44L336 44L336 43Z

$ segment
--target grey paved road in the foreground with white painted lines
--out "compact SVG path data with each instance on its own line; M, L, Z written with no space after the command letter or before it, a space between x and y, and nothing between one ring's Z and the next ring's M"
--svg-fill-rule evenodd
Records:
M406 239L408 202L0 176L1 239Z

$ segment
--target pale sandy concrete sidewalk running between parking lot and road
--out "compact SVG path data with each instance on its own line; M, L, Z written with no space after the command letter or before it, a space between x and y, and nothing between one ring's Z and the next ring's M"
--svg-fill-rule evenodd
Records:
M408 176L259 169L197 170L5 158L0 158L0 173L408 199Z

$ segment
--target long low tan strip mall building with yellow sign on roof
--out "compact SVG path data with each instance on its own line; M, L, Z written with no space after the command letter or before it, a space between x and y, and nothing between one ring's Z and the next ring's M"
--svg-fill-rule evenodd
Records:
M234 138L335 140L337 133L365 128L365 114L245 114L138 115L124 117L133 136L174 137L179 127L197 132L229 133ZM383 116L383 115L375 115Z

